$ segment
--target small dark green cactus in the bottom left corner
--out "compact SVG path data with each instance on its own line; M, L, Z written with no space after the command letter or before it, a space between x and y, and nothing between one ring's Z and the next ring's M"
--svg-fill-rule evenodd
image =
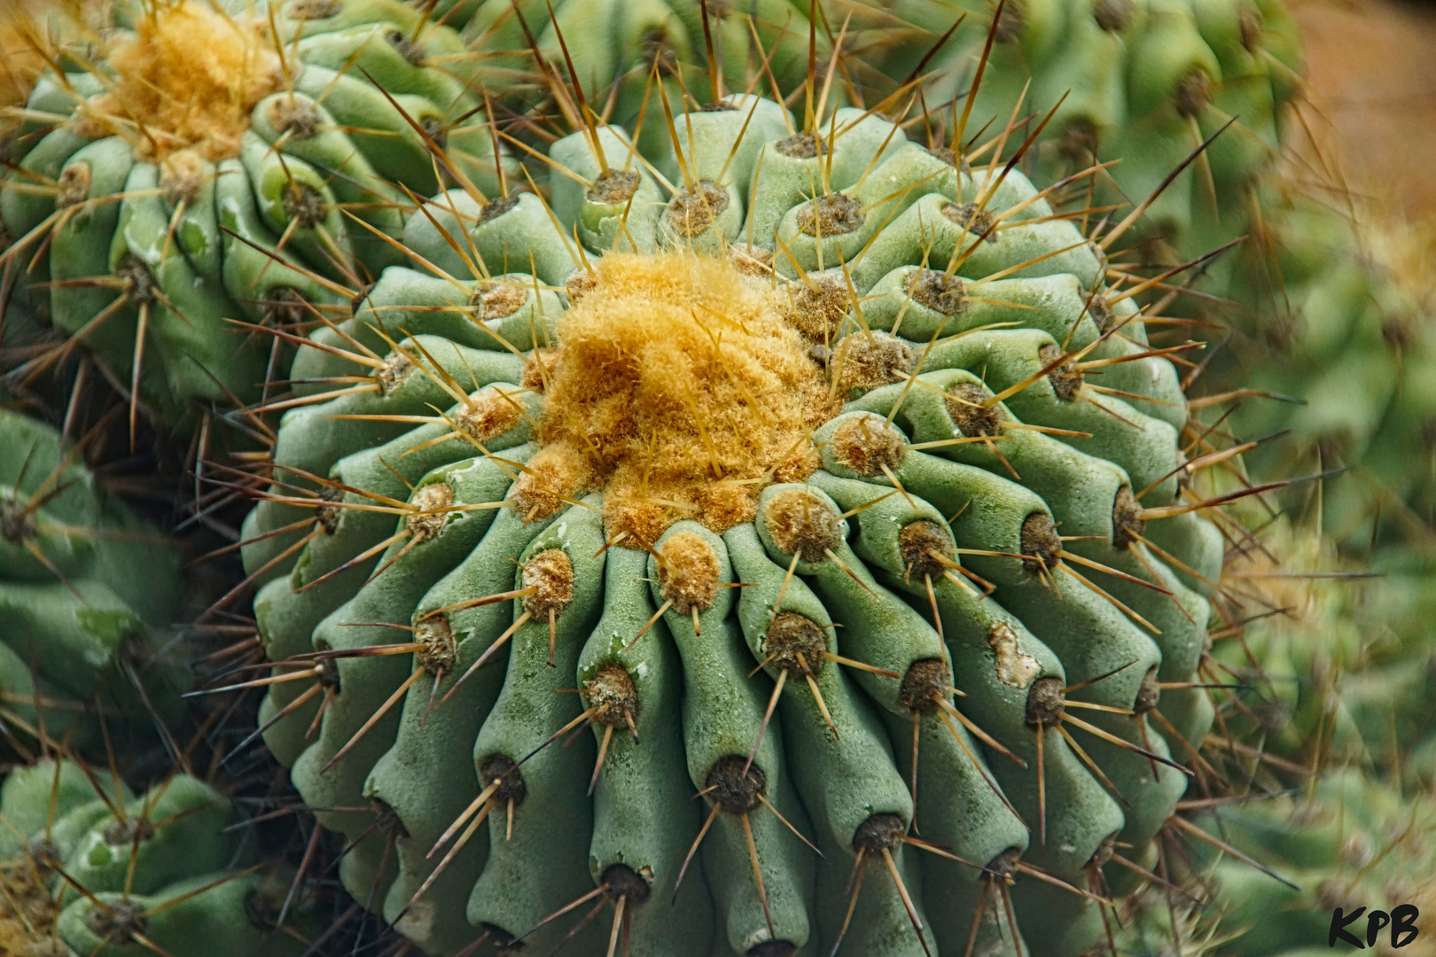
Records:
M0 948L299 957L304 935L276 931L287 881L240 869L237 821L185 773L134 796L69 759L11 770L0 786ZM312 930L307 915L290 923Z

